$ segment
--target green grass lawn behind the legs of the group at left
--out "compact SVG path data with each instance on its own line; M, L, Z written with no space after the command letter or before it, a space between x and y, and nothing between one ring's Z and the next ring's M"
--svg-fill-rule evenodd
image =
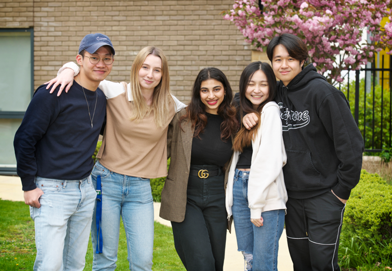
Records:
M32 270L35 260L34 222L29 208L22 201L0 200L0 271ZM185 271L174 249L170 227L154 223L153 271ZM120 226L120 243L117 269L128 270L125 231ZM91 241L86 255L85 271L92 269L93 248Z

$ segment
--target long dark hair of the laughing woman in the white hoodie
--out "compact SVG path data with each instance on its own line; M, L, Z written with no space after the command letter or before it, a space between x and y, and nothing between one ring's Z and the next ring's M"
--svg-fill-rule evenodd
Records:
M249 81L252 78L253 74L256 71L262 71L268 81L269 95L268 98L263 101L257 109L253 108L253 104L245 97L246 89L249 85ZM252 139L254 139L258 125L248 130L242 125L243 113L256 113L259 117L261 115L261 111L266 103L275 99L276 96L276 78L273 74L273 70L268 63L262 63L260 61L252 62L248 66L245 67L244 71L240 77L240 121L241 121L241 129L238 131L236 137L234 138L233 149L237 151L243 151L243 149L252 144ZM260 123L260 122L259 122Z

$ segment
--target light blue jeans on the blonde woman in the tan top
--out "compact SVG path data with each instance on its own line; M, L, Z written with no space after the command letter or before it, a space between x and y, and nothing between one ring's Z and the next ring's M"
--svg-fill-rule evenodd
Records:
M129 270L151 271L154 245L154 207L149 179L132 177L109 171L99 162L92 178L102 185L102 253L96 254L97 226L94 209L91 237L93 241L93 271L115 270L120 237L120 216L126 234Z

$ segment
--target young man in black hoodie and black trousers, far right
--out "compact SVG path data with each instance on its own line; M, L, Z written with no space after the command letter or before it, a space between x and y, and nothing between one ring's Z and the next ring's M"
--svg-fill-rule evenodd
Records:
M285 222L294 271L340 270L339 237L361 173L362 135L343 93L313 65L303 68L308 50L300 38L272 38L267 55L280 79L275 101L287 153Z

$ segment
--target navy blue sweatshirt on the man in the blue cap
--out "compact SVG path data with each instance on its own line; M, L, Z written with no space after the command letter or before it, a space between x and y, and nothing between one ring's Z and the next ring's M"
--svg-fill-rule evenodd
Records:
M27 107L22 124L15 134L17 173L24 191L36 188L35 176L60 180L88 177L93 169L92 155L97 146L106 111L106 98L84 89L93 117L93 128L86 98L76 81L68 93L56 96L59 87L49 94L40 86Z

